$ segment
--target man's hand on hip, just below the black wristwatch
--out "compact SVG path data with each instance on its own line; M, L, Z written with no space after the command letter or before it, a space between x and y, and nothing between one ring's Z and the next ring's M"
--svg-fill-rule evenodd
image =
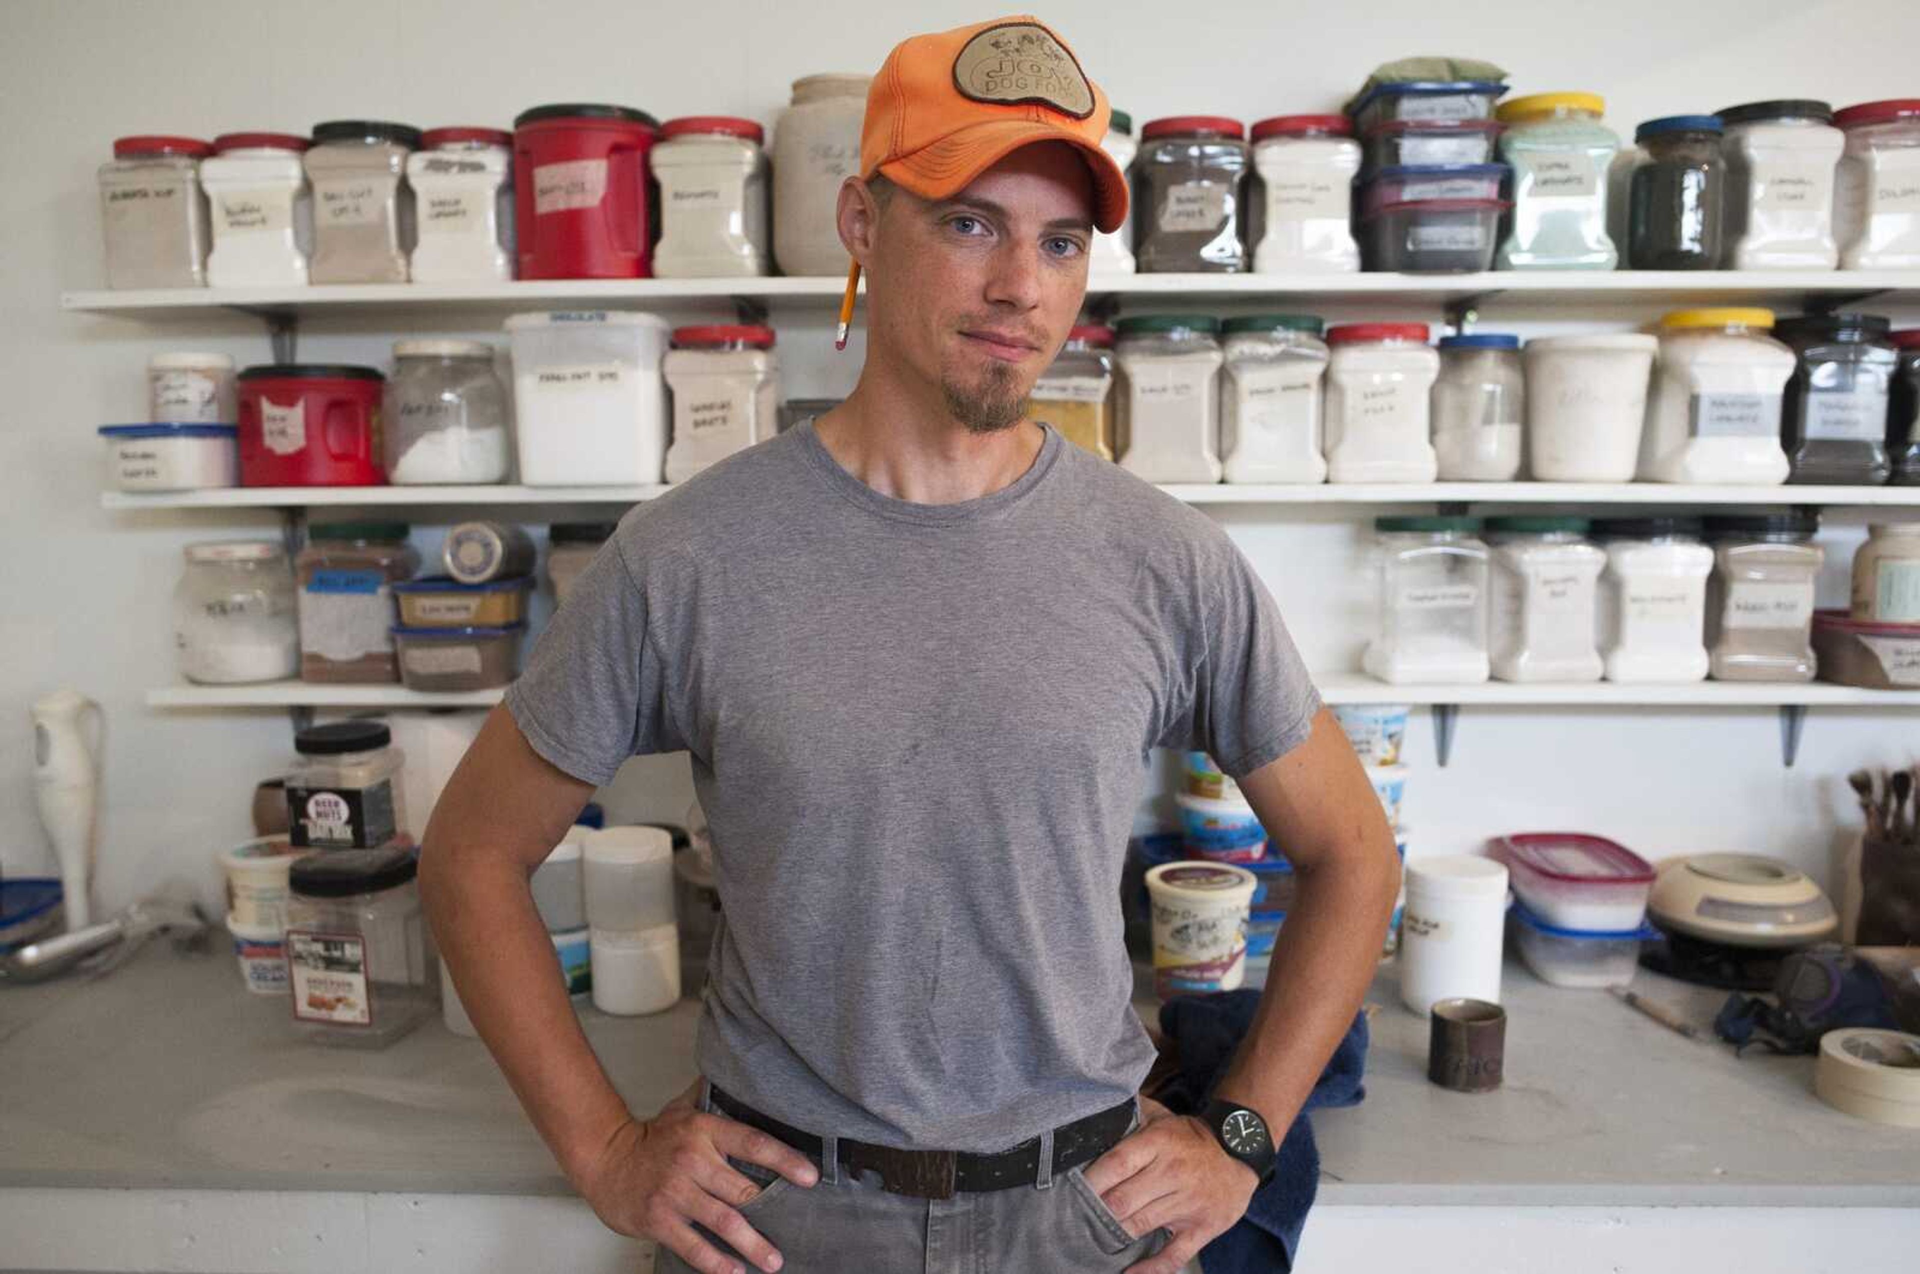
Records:
M1221 1149L1198 1119L1140 1097L1142 1124L1087 1165L1087 1184L1127 1234L1160 1226L1173 1238L1127 1274L1179 1274L1200 1249L1246 1213L1260 1178Z

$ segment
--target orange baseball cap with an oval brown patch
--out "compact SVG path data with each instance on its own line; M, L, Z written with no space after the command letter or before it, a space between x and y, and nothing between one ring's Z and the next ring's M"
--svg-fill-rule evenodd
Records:
M1079 59L1037 17L916 35L887 54L866 94L860 177L948 200L1035 142L1077 146L1100 230L1127 221L1127 175L1100 150L1110 107Z

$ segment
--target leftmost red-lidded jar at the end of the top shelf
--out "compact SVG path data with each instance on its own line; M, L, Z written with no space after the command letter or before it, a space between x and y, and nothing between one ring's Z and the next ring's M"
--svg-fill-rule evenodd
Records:
M108 288L204 288L207 196L200 161L213 148L190 136L123 136L100 165L100 228Z

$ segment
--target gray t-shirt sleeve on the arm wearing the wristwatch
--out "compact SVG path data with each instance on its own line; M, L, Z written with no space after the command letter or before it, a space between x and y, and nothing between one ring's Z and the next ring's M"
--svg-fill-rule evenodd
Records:
M1321 696L1246 554L1227 541L1210 558L1187 643L1198 660L1160 746L1208 752L1240 779L1306 743Z

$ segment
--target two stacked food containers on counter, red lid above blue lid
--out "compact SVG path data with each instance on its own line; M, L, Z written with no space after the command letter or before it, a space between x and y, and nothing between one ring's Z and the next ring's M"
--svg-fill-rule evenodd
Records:
M1501 837L1517 902L1511 927L1521 959L1549 986L1622 986L1640 942L1653 938L1647 894L1653 867L1622 844L1580 833Z

